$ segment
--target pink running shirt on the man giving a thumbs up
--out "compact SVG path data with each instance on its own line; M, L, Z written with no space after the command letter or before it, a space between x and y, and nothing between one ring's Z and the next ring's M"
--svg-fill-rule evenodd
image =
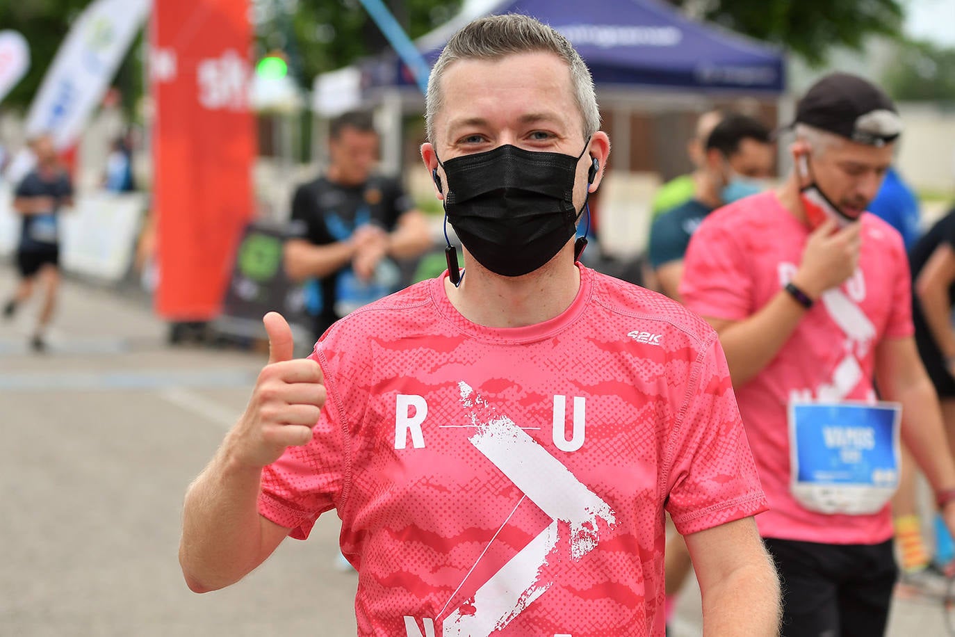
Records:
M583 266L539 325L477 326L442 277L312 356L328 402L260 511L302 539L337 509L361 635L662 636L664 504L685 534L765 508L715 332Z

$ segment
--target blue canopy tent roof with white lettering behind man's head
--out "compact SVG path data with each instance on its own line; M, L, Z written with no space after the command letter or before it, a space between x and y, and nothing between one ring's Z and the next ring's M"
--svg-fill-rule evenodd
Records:
M783 54L743 35L684 17L659 0L504 0L488 14L533 15L567 36L598 87L644 86L778 95L785 88ZM447 39L474 15L461 15L416 42L434 64ZM368 89L414 87L395 56L362 67Z

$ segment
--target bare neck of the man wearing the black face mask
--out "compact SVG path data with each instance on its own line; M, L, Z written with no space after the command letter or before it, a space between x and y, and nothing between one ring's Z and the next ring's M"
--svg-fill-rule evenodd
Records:
M502 277L470 263L460 287L445 280L451 304L464 318L487 328L521 328L559 316L581 287L581 272L572 259L573 245L538 270L520 277Z

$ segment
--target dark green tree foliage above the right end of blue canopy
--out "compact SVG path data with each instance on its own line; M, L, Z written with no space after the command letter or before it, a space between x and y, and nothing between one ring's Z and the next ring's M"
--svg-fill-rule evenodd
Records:
M869 35L898 37L900 0L669 0L690 14L782 46L812 65L833 47L859 51Z

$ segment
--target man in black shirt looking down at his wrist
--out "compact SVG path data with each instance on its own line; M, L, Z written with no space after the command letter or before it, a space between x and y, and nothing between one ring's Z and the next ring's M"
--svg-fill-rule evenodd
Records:
M328 172L292 198L286 273L307 282L316 338L352 309L394 291L398 273L389 257L414 257L432 243L401 185L372 174L377 150L370 114L336 117Z

